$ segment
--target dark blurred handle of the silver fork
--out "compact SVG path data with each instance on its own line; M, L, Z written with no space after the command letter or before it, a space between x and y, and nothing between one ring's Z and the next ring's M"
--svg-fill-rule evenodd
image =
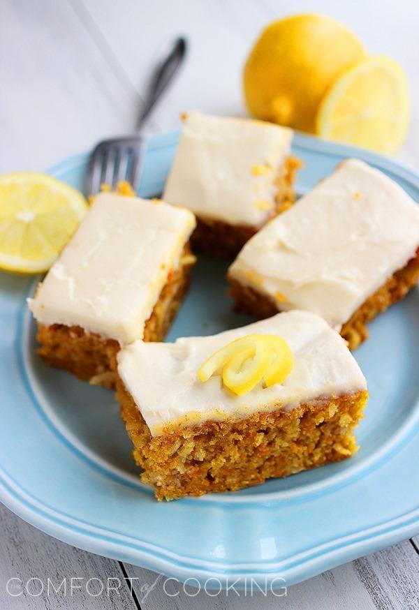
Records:
M177 38L166 59L161 61L161 64L157 66L152 75L152 80L149 84L149 89L145 98L145 104L142 108L140 117L138 117L137 131L140 131L150 112L152 112L154 104L175 76L177 70L179 70L185 54L186 40L185 38Z

